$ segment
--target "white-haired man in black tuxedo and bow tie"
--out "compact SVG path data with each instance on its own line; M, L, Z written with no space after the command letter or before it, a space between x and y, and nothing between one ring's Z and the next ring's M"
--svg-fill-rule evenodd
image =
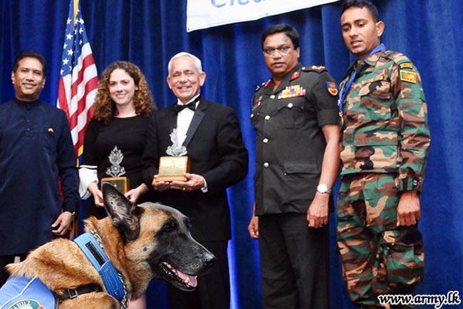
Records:
M143 155L145 183L157 191L158 201L189 217L193 237L217 258L216 265L198 278L193 293L170 287L171 308L229 308L227 244L231 238L227 187L246 176L248 152L232 108L200 95L206 79L201 61L186 52L168 64L167 83L177 103L152 116ZM159 161L172 146L172 131L187 148L191 161L187 181L159 181Z

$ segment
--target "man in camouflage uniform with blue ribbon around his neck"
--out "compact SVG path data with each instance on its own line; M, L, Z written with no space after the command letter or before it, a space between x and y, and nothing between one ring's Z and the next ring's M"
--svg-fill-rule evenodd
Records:
M373 4L345 1L341 27L357 58L339 86L343 278L360 308L396 308L377 296L413 293L423 276L417 221L430 146L425 95L410 59L380 44L384 24Z

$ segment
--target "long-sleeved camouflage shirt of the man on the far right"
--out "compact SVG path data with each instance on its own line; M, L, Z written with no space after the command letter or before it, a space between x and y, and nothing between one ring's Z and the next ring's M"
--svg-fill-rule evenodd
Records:
M420 74L407 56L383 50L355 61L340 89L354 70L343 102L341 174L397 173L399 191L421 191L430 131Z

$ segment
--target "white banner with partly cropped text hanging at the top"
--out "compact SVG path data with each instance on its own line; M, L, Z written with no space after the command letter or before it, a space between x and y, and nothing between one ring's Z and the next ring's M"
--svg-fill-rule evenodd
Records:
M187 31L255 21L335 1L338 0L188 0Z

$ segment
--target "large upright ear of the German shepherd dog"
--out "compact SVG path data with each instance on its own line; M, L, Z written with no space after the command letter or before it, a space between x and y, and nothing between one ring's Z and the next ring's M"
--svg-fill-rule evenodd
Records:
M140 218L137 205L110 183L103 183L103 206L125 243L138 238Z

